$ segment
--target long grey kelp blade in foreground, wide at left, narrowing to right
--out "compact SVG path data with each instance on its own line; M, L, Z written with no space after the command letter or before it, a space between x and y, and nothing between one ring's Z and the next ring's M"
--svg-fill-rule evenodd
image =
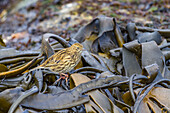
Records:
M94 79L65 92L57 94L34 94L24 99L21 105L39 110L61 110L72 108L89 101L89 97L82 94L94 89L112 86L120 81L128 82L127 80L128 78L123 76Z

